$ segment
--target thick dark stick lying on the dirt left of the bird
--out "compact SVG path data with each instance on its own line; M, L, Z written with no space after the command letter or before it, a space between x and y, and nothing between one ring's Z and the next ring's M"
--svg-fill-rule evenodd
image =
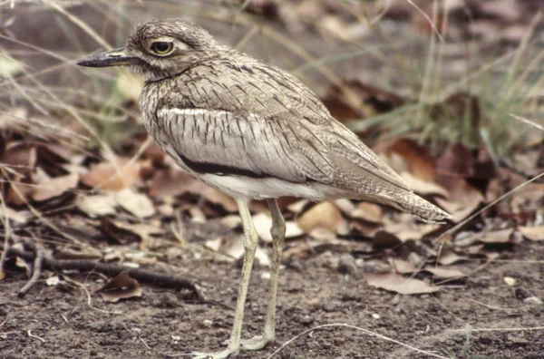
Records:
M30 261L34 260L34 254L26 252L24 250L19 250L16 248L9 248L7 250L8 256L21 257L24 260ZM167 287L172 289L189 289L193 291L200 300L207 300L207 297L204 294L201 286L197 283L196 280L189 279L187 277L173 277L165 274L154 273L149 270L117 266L107 263L98 263L93 260L84 260L84 259L53 259L49 257L44 257L42 262L42 267L46 270L53 271L62 271L75 269L80 272L99 272L108 277L116 277L122 271L126 271L129 275L138 280L141 283L146 283L151 286L160 286Z

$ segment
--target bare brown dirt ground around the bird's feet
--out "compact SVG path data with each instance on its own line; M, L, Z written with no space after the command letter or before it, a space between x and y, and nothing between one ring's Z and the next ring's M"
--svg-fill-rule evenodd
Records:
M473 271L467 279L444 284L432 295L399 297L369 286L365 267L359 267L355 276L339 273L332 263L340 254L325 252L297 260L281 273L276 342L261 352L242 352L238 357L269 357L308 330L272 357L431 357L354 328L312 330L318 325L341 324L445 357L544 358L544 306L523 302L528 291L535 296L544 294L542 249L534 245L510 248L500 261L463 263L458 267ZM23 273L10 273L0 285L2 357L146 358L221 348L234 315L231 308L236 301L239 266L206 256L195 259L191 253L169 265L199 278L219 305L203 304L188 292L144 286L143 296L113 304L91 294L89 307L81 288L45 286L44 281L21 299L15 292L26 278ZM267 268L254 267L245 337L259 334L264 323L265 272ZM504 277L514 277L516 285L508 286ZM80 277L90 289L101 286L96 279L100 278ZM470 336L465 329L471 330ZM39 338L31 337L29 331Z

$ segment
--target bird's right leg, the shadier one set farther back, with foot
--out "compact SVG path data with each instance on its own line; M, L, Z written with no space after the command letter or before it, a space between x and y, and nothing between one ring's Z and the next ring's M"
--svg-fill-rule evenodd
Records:
M281 264L281 252L283 250L284 239L286 238L286 221L281 215L277 206L276 199L268 199L268 207L272 215L272 273L270 275L270 294L268 297L267 319L263 335L258 335L249 340L242 341L243 350L259 350L274 340L276 336L276 298L277 298L277 278L279 277L279 266Z

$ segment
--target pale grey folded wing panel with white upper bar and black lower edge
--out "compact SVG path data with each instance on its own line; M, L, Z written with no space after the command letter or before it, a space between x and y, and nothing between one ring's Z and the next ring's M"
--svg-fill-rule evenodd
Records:
M332 180L331 164L322 148L301 148L304 129L280 129L277 122L249 113L225 110L162 108L157 112L169 143L189 170L197 173L242 175L303 183Z

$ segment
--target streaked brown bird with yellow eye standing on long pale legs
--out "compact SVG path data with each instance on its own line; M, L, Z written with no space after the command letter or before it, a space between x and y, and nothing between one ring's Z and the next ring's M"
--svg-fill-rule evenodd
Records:
M277 199L355 199L387 205L425 222L451 216L416 195L295 76L219 44L181 19L138 25L124 47L77 64L125 66L145 82L139 104L151 138L181 169L235 199L244 231L234 323L228 346L194 358L227 358L275 340L277 282L286 222ZM248 201L267 201L273 238L262 335L241 340L257 230Z

